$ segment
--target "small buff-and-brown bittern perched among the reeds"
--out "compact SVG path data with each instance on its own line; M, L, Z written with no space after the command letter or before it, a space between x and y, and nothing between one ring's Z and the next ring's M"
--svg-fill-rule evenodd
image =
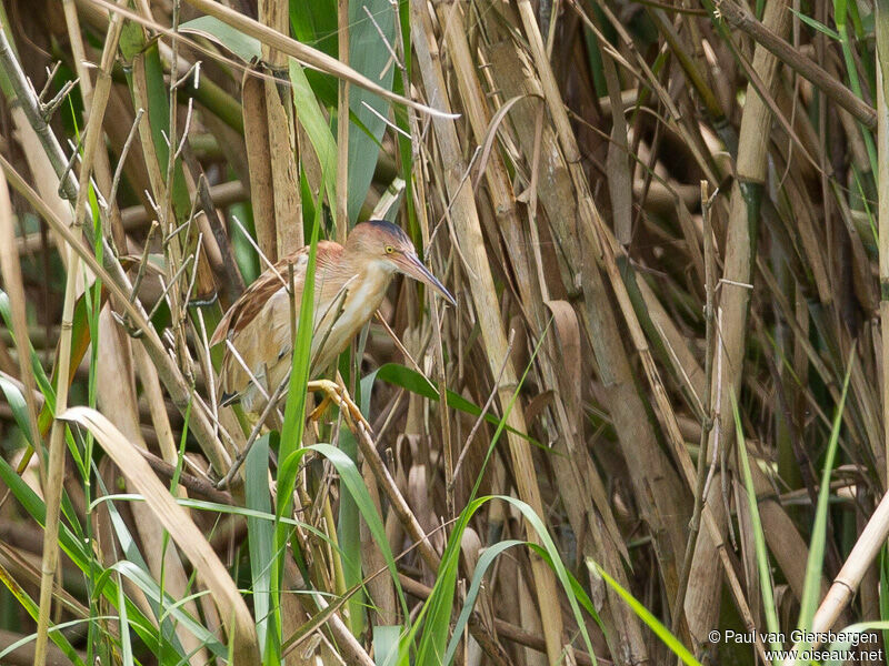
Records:
M262 273L219 322L210 346L227 341L219 389L223 405L241 403L259 414L291 366L292 332L299 322L309 248ZM292 303L289 293L293 271ZM417 256L408 235L382 220L356 225L344 245L319 241L316 254L311 374L322 372L346 349L382 303L394 273L453 296Z

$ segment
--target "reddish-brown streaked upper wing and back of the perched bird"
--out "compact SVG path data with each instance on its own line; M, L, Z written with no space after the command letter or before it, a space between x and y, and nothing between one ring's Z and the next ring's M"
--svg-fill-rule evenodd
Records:
M318 252L316 254L316 272L320 273L336 265L341 254L342 245L339 243L334 243L333 241L319 241ZM257 278L232 306L229 307L226 315L219 322L219 325L217 325L210 339L210 346L214 346L223 340L230 339L256 319L266 306L268 300L288 283L288 265L290 264L293 265L293 282L297 285L297 295L299 295L302 292L300 285L306 280L308 256L309 246L306 245L279 260L273 269L268 269Z

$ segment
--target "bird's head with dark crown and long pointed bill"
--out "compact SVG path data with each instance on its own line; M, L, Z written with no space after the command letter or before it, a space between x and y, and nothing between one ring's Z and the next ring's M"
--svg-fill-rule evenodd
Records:
M376 262L386 271L402 273L428 284L451 305L457 305L450 292L417 256L408 234L391 222L370 220L357 224L346 241L346 250L364 262Z

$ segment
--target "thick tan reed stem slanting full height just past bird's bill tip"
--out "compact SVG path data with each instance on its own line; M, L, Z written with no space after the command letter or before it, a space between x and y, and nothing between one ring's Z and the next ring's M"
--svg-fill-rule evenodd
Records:
M410 13L411 38L417 50L417 63L429 100L434 107L449 110L448 89L441 71L438 43L432 32L429 9L424 2L413 0L410 4ZM471 294L487 349L490 370L496 377L499 370L503 369L502 382L498 386L498 394L502 410L506 413L512 402L517 375L512 363L510 361L503 362L508 355L507 336L503 331L503 322L499 315L497 291L485 250L481 224L472 196L471 183L463 179L466 163L462 159L460 140L453 121L444 118L434 118L432 123L444 167L446 186L452 202L451 219L453 228L462 245L462 253L468 269L475 275L475 279L470 281ZM519 405L508 412L507 424L518 432L525 432L525 417ZM543 505L540 497L540 488L537 485L530 446L525 440L512 433L508 437L519 495L538 515L543 516ZM539 541L539 537L530 526L528 532L530 541ZM560 659L562 652L562 616L559 607L556 578L540 557L531 556L531 567L537 587L540 616L543 623L547 657L550 663L555 664Z

